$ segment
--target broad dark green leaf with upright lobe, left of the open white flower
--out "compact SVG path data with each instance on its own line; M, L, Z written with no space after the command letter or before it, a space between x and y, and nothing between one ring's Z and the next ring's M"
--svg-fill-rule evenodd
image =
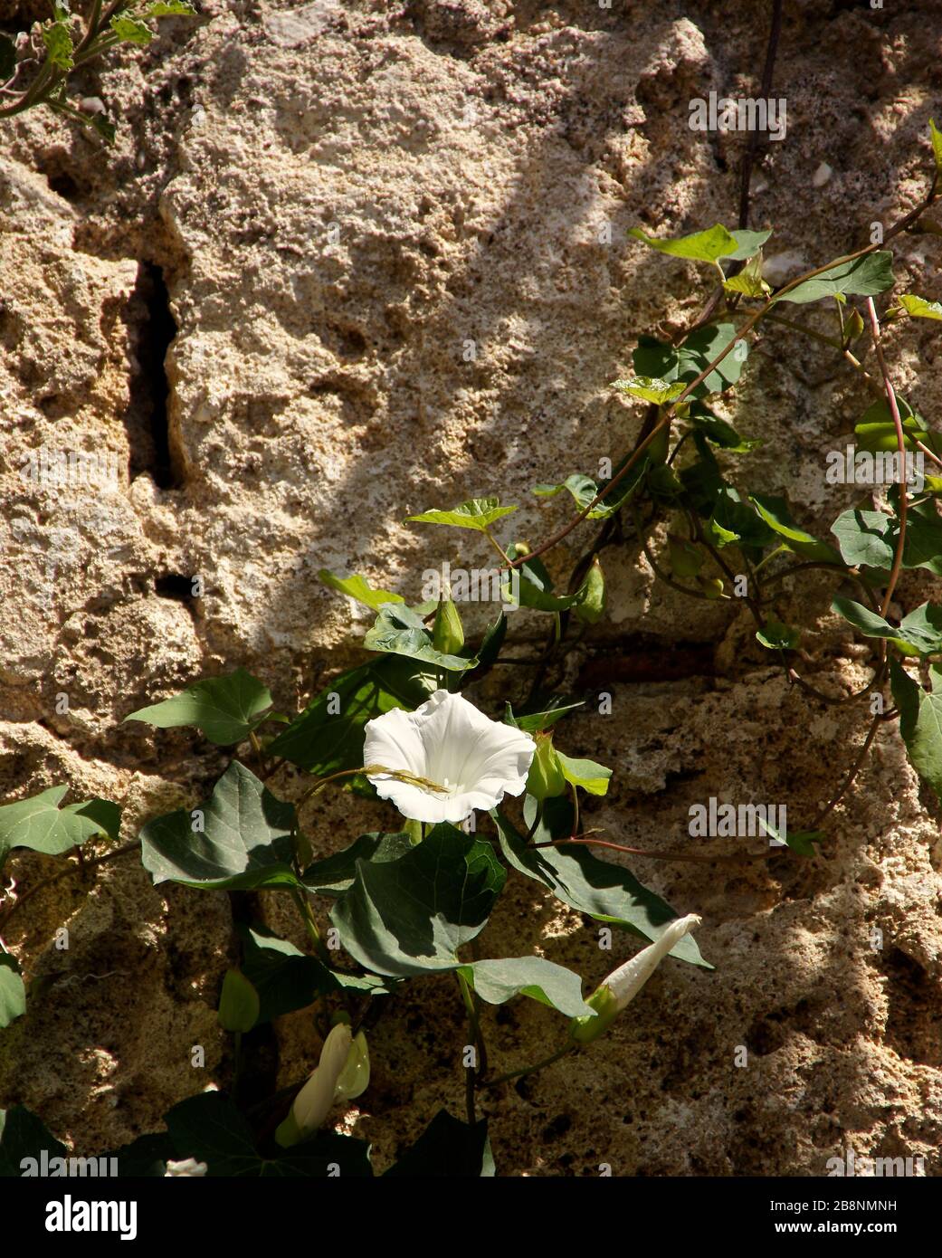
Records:
M197 811L202 833L194 830L186 809L141 830L141 860L155 883L226 891L302 886L292 866L294 808L275 799L238 760Z

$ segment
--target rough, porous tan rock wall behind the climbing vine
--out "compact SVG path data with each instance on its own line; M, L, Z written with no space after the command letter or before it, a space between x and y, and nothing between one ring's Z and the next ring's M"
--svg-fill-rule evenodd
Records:
M786 3L787 136L752 190L751 225L776 228L770 253L826 262L917 203L933 96L942 112L941 13ZM472 494L521 503L517 536L556 527L567 508L538 506L532 486L626 448L639 416L606 386L640 333L692 317L704 292L702 273L626 231L734 225L743 137L690 131L688 102L757 93L766 35L766 5L732 3L205 0L199 21L167 21L150 48L87 72L82 94L113 103L113 148L48 111L0 122L4 796L69 782L69 798L118 801L131 839L204 798L225 757L192 731L123 726L130 711L239 664L296 711L358 658L363 620L319 567L418 598L430 562L484 554L401 521ZM897 274L942 296L936 238L894 248ZM931 325L894 332L889 350L897 385L936 414ZM823 474L867 403L850 376L781 332L728 404L765 438L750 483L824 531L853 498ZM96 453L114 476L96 489L29 481L40 448ZM555 571L579 554L570 541ZM810 821L864 710L789 688L745 610L688 603L630 550L605 567L610 616L566 677L612 696L610 716L590 707L566 726L565 746L615 769L592 824L673 849L692 842L689 804L711 795L787 803L792 824ZM921 589L904 581L903 604ZM819 629L806 671L843 694L868 672L831 593L811 580L795 600ZM324 805L324 852L360 820L375 828L375 811L357 804L351 821L348 808ZM490 1093L499 1172L820 1175L853 1147L938 1174L937 815L889 727L824 858L636 859L678 911L703 916L716 972L663 966L590 1052ZM8 868L21 896L58 867L23 854ZM519 952L535 923L545 955L590 980L630 947L616 936L600 952L589 921L514 879L489 940ZM91 1154L225 1084L225 896L153 889L123 858L38 892L5 940L33 993L0 1042L0 1103L29 1105ZM557 1023L526 1000L489 1010L496 1068L542 1055ZM465 1034L436 980L379 1021L374 1084L347 1128L379 1166L440 1105L462 1112ZM279 1035L285 1083L318 1042L304 1014Z

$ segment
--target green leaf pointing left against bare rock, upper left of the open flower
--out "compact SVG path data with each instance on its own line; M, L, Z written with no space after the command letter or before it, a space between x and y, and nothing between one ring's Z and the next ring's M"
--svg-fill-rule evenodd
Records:
M140 708L126 721L143 721L158 730L195 725L210 742L220 747L248 738L265 720L272 694L244 668L226 677L208 677L162 703Z

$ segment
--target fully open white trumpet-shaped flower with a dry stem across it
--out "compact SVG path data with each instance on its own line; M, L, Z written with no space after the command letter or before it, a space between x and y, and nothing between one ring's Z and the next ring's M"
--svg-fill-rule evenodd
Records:
M460 694L435 691L415 712L394 708L367 721L363 764L402 816L455 823L522 795L535 751L528 733L492 721Z

